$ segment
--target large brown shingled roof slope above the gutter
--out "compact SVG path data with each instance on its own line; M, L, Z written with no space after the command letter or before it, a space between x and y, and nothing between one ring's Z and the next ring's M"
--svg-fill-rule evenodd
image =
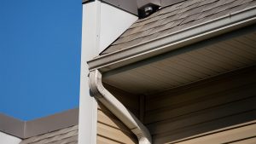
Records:
M129 49L206 21L256 5L255 0L187 0L137 20L101 55Z

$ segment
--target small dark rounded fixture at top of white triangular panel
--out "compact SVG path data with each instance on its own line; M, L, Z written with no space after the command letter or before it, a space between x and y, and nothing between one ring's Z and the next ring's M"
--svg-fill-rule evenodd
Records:
M159 9L160 9L159 5L155 5L154 3L148 3L138 9L138 16L140 19L143 19L148 17L150 14L153 14Z

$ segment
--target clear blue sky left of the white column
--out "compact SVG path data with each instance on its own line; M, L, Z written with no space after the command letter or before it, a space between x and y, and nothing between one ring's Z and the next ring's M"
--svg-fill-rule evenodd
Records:
M23 120L79 107L81 0L1 0L0 112Z

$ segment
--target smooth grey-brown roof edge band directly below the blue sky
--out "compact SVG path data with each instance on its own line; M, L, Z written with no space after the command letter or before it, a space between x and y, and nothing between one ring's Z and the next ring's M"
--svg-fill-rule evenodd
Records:
M20 139L27 139L55 130L65 130L73 125L79 124L79 108L29 121L12 118L0 112L0 119L0 131L19 137Z

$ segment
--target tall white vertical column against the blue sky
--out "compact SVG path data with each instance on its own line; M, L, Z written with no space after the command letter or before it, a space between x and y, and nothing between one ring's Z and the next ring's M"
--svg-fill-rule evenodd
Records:
M97 103L90 96L86 61L91 60L99 52L100 4L99 0L83 4L79 144L96 144Z

